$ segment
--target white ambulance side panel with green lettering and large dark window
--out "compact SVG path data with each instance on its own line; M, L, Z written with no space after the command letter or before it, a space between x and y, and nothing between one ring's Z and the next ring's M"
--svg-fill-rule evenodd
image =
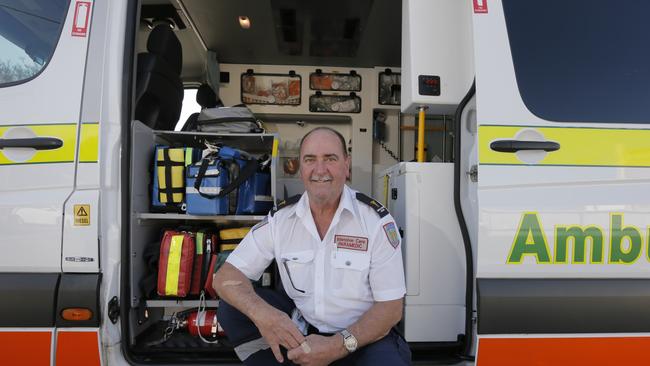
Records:
M478 365L643 363L650 3L473 3Z

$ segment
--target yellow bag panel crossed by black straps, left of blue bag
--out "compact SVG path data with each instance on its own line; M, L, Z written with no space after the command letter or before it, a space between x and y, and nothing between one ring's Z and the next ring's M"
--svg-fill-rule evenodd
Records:
M159 148L158 198L162 203L181 203L185 191L185 148ZM168 177L171 184L168 185Z

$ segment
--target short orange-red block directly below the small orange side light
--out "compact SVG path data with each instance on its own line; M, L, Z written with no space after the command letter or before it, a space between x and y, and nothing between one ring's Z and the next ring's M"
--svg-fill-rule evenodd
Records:
M55 364L56 366L101 365L98 331L57 331Z

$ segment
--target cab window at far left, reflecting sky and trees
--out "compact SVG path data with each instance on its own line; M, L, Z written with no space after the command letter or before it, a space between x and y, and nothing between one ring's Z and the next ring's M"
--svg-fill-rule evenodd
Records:
M68 0L0 0L0 85L38 74L49 62Z

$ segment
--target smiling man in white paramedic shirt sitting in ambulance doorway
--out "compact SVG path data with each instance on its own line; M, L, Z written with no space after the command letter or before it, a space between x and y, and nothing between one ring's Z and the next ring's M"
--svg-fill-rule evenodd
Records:
M401 238L383 206L345 185L349 172L343 137L310 131L306 192L253 227L216 273L218 319L245 364L410 364L393 328L406 293ZM250 284L274 259L286 294Z

